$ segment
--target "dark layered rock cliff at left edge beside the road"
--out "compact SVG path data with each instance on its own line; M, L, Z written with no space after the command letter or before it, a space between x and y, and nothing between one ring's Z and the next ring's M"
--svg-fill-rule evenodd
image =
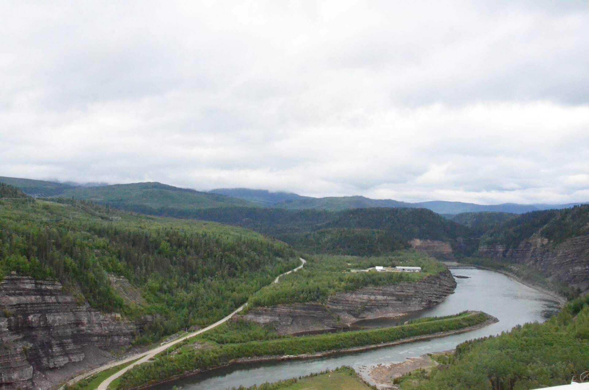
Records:
M0 389L32 389L43 372L84 359L84 346L128 345L137 327L78 305L57 282L8 276L0 285Z

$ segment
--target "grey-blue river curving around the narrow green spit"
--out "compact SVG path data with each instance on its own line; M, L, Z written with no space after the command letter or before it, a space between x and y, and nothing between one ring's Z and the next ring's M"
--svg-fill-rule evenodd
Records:
M252 363L233 365L204 374L178 379L152 389L170 390L172 386L182 386L184 390L225 390L239 385L252 386L264 382L309 375L313 372L349 365L366 380L370 366L378 363L389 364L404 361L406 358L428 352L453 349L463 341L481 336L496 335L510 330L515 325L526 322L543 322L558 311L558 302L551 296L522 285L498 272L472 267L451 267L453 275L468 276L456 278L456 290L435 308L420 310L411 318L450 315L463 310L482 310L499 319L499 322L482 329L444 338L419 341L372 351L342 354L319 359L305 359L273 363ZM405 319L403 319L405 320ZM378 327L395 325L399 320L366 320L360 325Z

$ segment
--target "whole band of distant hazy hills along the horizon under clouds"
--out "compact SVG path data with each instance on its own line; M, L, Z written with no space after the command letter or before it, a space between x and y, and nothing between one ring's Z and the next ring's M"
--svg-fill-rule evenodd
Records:
M566 209L586 203L567 204L476 204L459 201L423 201L409 203L392 199L370 199L364 196L315 198L285 191L246 188L197 191L157 182L112 184L57 183L54 181L0 177L0 182L18 187L27 194L74 197L127 210L153 213L166 209L209 209L216 207L273 207L287 210L341 211L372 207L429 209L438 214L478 213L496 211L523 214L530 211ZM92 186L92 184L98 184ZM150 211L151 210L151 211Z

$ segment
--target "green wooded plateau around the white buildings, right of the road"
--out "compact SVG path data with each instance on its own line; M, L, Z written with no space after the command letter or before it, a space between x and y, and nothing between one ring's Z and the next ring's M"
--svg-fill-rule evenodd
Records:
M418 266L422 268L422 272L351 272L375 266ZM256 306L274 306L280 303L325 303L330 295L339 291L416 282L444 270L446 267L443 263L413 250L398 251L379 257L309 256L305 267L299 272L284 275L280 278L280 283L266 286L256 292L249 299L246 311Z

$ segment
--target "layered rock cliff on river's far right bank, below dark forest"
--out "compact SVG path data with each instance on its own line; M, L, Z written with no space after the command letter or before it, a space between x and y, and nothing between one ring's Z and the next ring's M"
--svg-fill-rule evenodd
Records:
M479 255L521 263L582 292L589 290L589 235L556 244L534 234L514 248L481 245Z

